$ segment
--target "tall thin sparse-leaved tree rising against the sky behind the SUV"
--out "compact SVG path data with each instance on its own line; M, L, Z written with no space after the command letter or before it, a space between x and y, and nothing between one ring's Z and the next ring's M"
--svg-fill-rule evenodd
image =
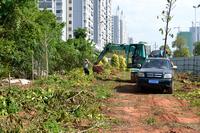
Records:
M171 13L175 7L175 3L176 3L176 0L167 0L166 9L162 11L162 15L161 15L161 20L166 24L164 29L163 28L159 29L161 34L162 35L164 34L164 56L166 56L168 36L173 37L173 34L170 34L171 28L169 27L169 24L173 18Z

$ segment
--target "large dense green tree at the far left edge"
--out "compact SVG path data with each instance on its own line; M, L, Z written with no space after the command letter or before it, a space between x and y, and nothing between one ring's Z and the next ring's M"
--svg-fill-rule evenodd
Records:
M34 19L39 10L35 1L1 1L0 8L0 40L1 64L9 68L9 72L21 73L25 76L30 73L31 45L36 35ZM9 41L8 41L9 40Z

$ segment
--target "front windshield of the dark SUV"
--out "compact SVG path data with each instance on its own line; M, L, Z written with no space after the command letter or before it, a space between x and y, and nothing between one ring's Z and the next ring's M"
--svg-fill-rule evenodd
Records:
M142 68L170 69L170 63L165 59L147 59Z

